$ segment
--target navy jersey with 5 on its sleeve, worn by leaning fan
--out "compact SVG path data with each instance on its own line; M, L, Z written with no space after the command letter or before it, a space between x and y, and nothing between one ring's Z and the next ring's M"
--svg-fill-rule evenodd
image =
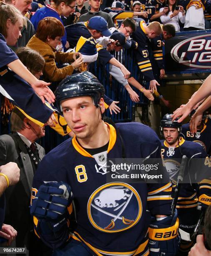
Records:
M138 67L148 81L154 80L152 65L148 54L148 38L145 31L145 22L142 19L134 19L136 21L136 31L133 32L132 38L138 43L138 48L134 51Z

